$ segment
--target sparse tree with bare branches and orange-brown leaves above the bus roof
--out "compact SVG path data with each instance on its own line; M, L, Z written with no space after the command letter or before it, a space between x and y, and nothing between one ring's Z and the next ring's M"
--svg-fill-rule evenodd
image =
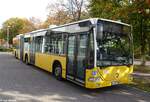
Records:
M59 0L54 4L48 5L48 19L51 18L54 19L57 24L63 24L80 20L82 17L86 18L87 16L85 15L88 15L86 4L86 0Z

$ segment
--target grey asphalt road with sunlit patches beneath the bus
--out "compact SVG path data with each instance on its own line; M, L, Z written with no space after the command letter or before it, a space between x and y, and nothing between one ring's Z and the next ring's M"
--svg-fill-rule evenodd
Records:
M150 102L150 94L124 85L89 90L58 81L37 67L0 53L0 102Z

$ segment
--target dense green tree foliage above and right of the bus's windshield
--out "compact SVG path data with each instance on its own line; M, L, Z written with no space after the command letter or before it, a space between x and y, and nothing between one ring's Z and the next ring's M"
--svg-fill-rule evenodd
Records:
M92 17L121 20L133 26L135 55L140 52L143 65L150 40L145 30L145 26L150 22L150 15L145 13L146 8L150 8L148 0L90 0L89 4Z

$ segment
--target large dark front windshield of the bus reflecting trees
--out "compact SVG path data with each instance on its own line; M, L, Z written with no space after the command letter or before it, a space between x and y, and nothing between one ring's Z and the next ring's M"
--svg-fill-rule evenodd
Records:
M100 21L97 25L97 66L133 64L131 27Z

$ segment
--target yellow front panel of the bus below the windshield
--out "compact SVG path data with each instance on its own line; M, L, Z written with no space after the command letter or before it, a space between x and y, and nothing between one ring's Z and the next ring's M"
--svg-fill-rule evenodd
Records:
M95 71L97 74L92 75ZM133 66L110 66L105 68L93 68L86 69L86 88L101 88L111 86L112 82L117 82L118 84L129 84L132 82L131 74L133 72ZM89 78L98 77L101 78L100 81L91 82Z

